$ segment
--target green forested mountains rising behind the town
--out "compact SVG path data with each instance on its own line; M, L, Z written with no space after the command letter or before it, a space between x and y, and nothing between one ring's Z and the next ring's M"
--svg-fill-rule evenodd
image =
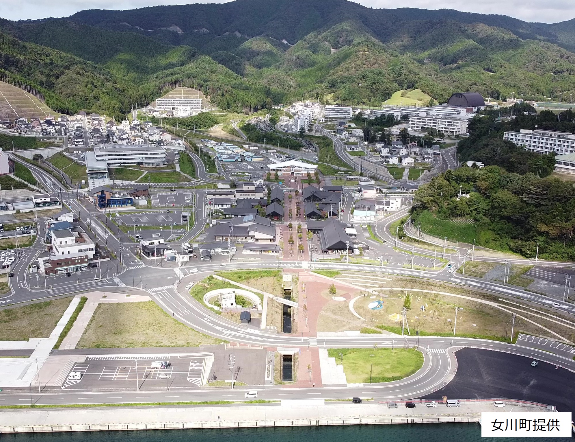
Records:
M29 67L18 75L51 93L60 110L119 115L177 81L234 111L294 97L379 105L416 88L439 103L456 91L534 99L575 92L573 20L548 25L346 0L237 0L0 20L0 31L0 69L15 74L10 54L26 48L20 63ZM70 70L73 82L66 81ZM101 97L91 98L93 89Z

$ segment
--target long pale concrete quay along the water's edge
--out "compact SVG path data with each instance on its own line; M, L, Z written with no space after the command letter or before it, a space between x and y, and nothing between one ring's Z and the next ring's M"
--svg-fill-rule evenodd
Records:
M16 409L0 413L0 433L478 422L482 411L501 410L494 408L492 401L462 402L461 407L452 408L443 403L428 408L423 402L414 402L414 409L405 408L404 403L388 409L386 403L304 405L302 401L253 406ZM541 404L507 404L518 411L545 411Z

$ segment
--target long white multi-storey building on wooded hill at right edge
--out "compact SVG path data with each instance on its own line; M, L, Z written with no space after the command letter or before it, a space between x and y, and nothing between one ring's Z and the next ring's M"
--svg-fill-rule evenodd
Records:
M503 139L523 146L525 150L538 153L555 152L559 155L575 152L575 134L545 129L521 129L504 132Z

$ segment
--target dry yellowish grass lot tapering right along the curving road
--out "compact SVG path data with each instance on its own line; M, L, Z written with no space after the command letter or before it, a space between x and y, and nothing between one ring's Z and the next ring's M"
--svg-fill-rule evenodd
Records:
M99 304L77 348L195 347L220 342L146 301Z

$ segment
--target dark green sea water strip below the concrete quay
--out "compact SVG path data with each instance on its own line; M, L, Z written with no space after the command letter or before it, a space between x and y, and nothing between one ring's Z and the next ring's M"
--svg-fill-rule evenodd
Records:
M2 435L17 442L478 442L479 424L396 424L283 428L147 430ZM485 442L554 441L572 438L489 438Z

